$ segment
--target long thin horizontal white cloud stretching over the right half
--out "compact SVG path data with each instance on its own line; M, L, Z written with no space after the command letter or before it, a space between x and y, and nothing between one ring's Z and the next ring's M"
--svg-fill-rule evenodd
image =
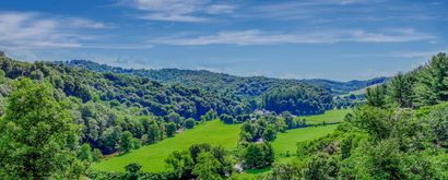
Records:
M278 45L278 44L334 44L351 43L405 43L432 39L434 36L413 28L367 32L364 29L316 31L299 33L268 33L259 29L221 32L198 37L166 37L153 43L181 46L199 45Z

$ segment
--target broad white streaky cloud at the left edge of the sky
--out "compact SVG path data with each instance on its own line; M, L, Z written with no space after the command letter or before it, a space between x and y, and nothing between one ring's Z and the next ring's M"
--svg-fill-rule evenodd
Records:
M142 49L151 45L108 44L104 31L114 28L103 22L80 17L48 16L35 12L0 12L0 48L11 50L94 48ZM87 34L85 31L97 31Z

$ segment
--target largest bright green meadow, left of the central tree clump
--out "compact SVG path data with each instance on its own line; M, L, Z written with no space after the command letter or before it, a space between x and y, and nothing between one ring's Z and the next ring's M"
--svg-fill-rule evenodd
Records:
M187 149L192 144L210 143L223 145L232 149L237 145L239 124L223 124L214 120L194 127L192 130L176 134L156 144L143 146L119 157L102 160L94 164L93 168L104 171L125 171L125 166L130 163L142 165L143 171L163 171L165 158L176 149Z

